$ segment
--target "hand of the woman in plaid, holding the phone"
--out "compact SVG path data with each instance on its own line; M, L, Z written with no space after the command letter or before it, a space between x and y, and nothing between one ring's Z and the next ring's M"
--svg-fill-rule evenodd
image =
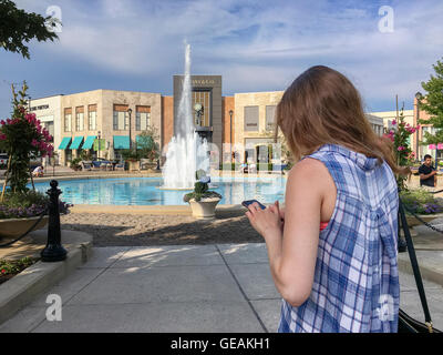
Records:
M248 206L246 212L253 227L265 239L269 237L281 237L284 221L281 220L281 211L278 205L278 201L274 205L268 206L266 210L261 210L258 203L253 203ZM282 213L285 216L285 212Z

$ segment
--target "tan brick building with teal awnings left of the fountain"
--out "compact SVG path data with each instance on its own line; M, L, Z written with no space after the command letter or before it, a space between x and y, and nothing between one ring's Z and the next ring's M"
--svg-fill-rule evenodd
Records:
M60 163L65 165L84 150L93 158L120 160L122 150L134 146L150 126L157 131L161 144L161 118L159 93L94 90L63 95L61 143L55 145Z

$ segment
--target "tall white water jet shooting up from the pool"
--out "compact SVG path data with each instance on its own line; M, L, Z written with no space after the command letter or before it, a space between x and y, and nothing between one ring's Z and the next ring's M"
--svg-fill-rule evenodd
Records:
M208 144L195 131L192 109L190 44L186 43L185 77L175 125L177 131L167 144L166 162L163 166L162 189L193 189L195 172L209 171Z

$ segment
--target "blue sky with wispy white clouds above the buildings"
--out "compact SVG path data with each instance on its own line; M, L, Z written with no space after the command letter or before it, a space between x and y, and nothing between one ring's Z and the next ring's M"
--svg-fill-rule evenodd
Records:
M223 75L224 95L284 91L322 64L354 83L367 112L395 110L396 94L412 109L443 59L442 0L14 2L63 26L59 40L29 43L31 60L0 49L0 118L11 111L10 83L23 80L35 99L95 89L172 95L185 41L192 73Z

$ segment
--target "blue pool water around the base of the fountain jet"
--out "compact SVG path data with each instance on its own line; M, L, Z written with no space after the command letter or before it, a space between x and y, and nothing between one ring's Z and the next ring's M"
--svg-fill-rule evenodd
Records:
M158 189L161 178L123 178L59 181L61 200L73 204L102 205L186 205L183 195L189 191ZM285 201L284 178L214 178L209 189L222 194L220 204L240 204L256 199L264 203ZM49 182L35 183L45 192Z

